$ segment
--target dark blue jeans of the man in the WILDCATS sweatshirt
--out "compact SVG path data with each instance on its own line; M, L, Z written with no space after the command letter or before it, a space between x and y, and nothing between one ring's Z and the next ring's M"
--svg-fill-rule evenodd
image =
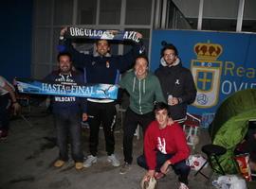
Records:
M60 160L68 160L68 139L70 137L71 155L76 163L83 162L80 125L81 113L66 112L55 113L55 126L57 131L57 145L60 148Z

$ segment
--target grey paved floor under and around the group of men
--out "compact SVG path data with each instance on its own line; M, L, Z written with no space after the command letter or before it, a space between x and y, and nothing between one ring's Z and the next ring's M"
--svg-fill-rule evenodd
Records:
M119 174L119 167L113 167L106 161L104 140L101 130L99 162L82 171L74 168L70 162L62 169L56 169L52 163L58 157L55 146L52 116L42 107L32 107L27 121L21 117L12 120L9 137L0 142L0 189L137 189L144 170L133 163L132 169L125 175ZM118 121L120 123L120 121ZM118 125L116 131L116 153L122 160L122 131ZM83 129L83 149L87 155L88 129ZM200 144L210 143L207 130L200 131ZM142 139L134 138L134 157L142 153ZM199 150L200 151L200 150ZM207 168L205 170L209 172ZM190 175L190 188L213 188L205 178ZM171 171L167 177L158 181L158 188L177 188L177 178Z

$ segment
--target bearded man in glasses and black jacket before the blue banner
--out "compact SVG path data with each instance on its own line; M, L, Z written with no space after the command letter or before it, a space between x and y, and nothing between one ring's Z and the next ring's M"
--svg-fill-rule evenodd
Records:
M162 48L160 66L155 75L159 78L172 118L183 122L188 105L195 99L196 88L192 73L182 66L174 44L165 44Z

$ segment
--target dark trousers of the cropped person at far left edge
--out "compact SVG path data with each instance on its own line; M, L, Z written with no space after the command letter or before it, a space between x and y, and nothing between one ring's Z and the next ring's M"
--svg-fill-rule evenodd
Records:
M9 94L0 95L0 129L9 130L9 107L11 100Z

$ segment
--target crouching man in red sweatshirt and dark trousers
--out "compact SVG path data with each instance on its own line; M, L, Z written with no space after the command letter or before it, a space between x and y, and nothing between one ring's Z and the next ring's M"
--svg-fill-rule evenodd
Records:
M186 164L186 159L190 148L185 133L169 117L168 105L163 102L155 104L155 119L144 136L144 154L137 158L137 164L148 170L144 180L152 177L160 179L171 165L179 176L179 189L188 189L190 166Z

